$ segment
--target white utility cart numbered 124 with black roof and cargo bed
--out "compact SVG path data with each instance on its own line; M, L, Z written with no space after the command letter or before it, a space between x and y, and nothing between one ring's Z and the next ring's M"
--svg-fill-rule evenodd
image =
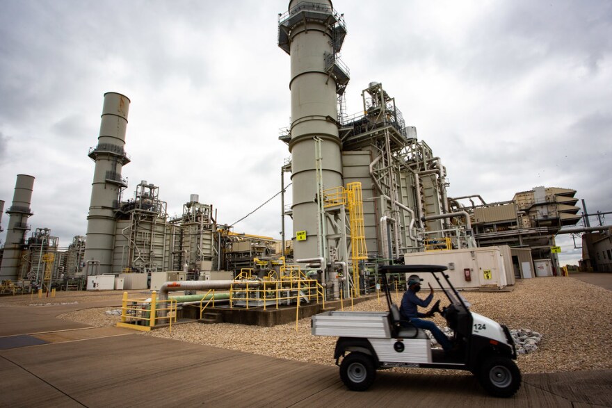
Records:
M510 330L470 311L444 270L445 266L434 265L381 266L388 312L327 311L312 317L312 334L338 336L334 358L340 366L341 380L349 389L368 389L376 370L390 367L469 370L497 397L510 397L520 388L521 373L513 361L517 353ZM444 316L453 329L453 352L432 348L422 329L401 320L389 293L387 275L392 273L433 275L450 304L440 311L438 301L431 311Z

